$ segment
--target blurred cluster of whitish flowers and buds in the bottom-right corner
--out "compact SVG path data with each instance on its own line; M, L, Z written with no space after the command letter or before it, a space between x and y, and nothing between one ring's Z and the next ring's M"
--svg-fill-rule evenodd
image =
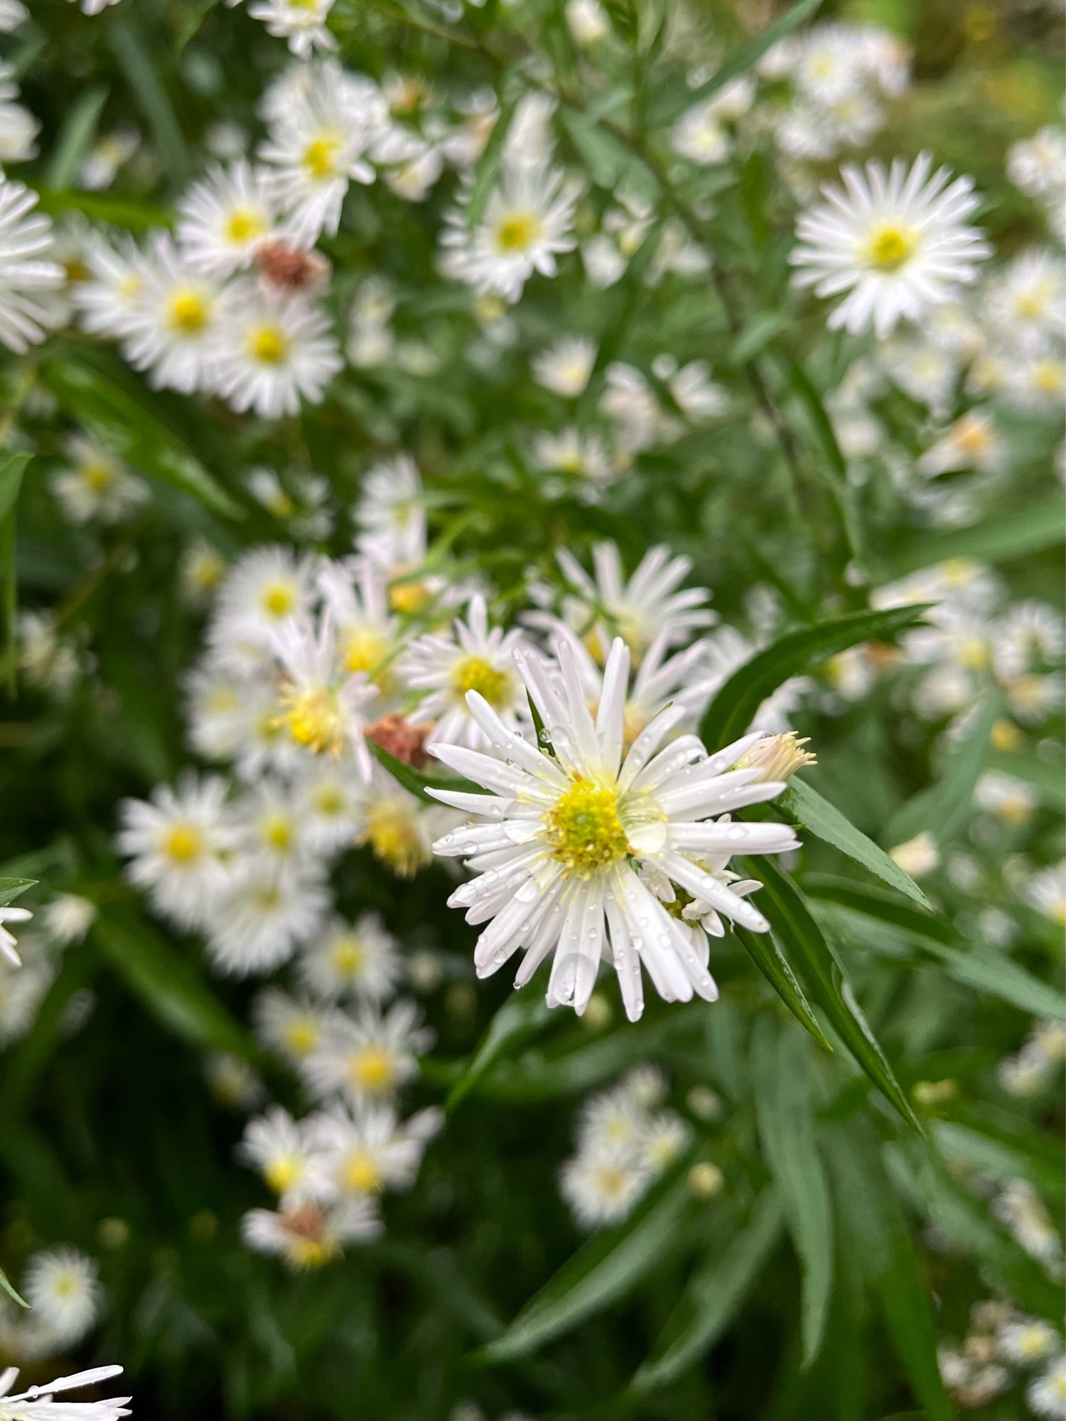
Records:
M959 1346L937 1351L944 1385L959 1407L976 1410L1026 1378L1025 1400L1040 1421L1060 1421L1066 1411L1066 1356L1062 1337L1039 1317L1009 1303L976 1303L971 1330Z

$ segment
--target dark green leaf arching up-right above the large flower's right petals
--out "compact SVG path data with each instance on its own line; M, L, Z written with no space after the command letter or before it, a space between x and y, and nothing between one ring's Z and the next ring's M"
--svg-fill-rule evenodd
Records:
M708 749L739 739L766 696L812 666L863 641L884 641L912 627L927 604L885 611L851 612L814 627L785 632L732 674L706 709L699 737Z

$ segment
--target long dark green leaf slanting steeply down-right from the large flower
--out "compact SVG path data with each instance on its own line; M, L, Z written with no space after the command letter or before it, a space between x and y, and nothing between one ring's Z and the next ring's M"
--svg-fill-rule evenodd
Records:
M758 874L763 882L759 904L814 1002L870 1080L895 1106L903 1118L921 1133L918 1117L870 1030L836 953L810 915L803 895L787 874L769 858L759 860Z

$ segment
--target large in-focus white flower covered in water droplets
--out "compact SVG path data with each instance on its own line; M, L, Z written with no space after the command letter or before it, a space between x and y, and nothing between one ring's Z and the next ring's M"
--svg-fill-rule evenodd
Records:
M692 935L678 925L634 868L650 865L691 898L753 932L766 919L692 855L787 853L797 847L785 824L716 823L711 816L776 799L780 783L759 782L759 769L731 770L758 735L708 756L695 736L662 747L685 718L661 712L623 759L630 654L617 639L604 671L596 720L577 666L560 647L561 689L536 657L516 657L544 725L546 749L509 729L476 692L470 713L492 753L439 745L435 750L489 796L434 790L436 799L488 820L446 834L434 850L461 855L478 877L462 884L452 907L468 922L489 922L475 945L475 968L488 976L519 949L523 986L553 953L549 1006L583 1013L605 956L618 973L630 1020L644 1010L641 965L665 1000L718 989ZM657 753L658 752L658 753ZM489 921L492 919L492 921Z

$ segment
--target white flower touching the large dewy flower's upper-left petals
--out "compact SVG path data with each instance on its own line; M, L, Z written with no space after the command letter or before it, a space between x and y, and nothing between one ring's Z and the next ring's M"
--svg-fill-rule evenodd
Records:
M469 691L476 691L499 716L515 723L526 708L526 693L515 671L515 651L520 645L520 631L489 627L488 607L480 595L470 600L466 620L456 617L451 637L431 634L411 644L399 671L412 689L428 692L412 712L418 720L435 722L428 746L485 743L466 703Z

